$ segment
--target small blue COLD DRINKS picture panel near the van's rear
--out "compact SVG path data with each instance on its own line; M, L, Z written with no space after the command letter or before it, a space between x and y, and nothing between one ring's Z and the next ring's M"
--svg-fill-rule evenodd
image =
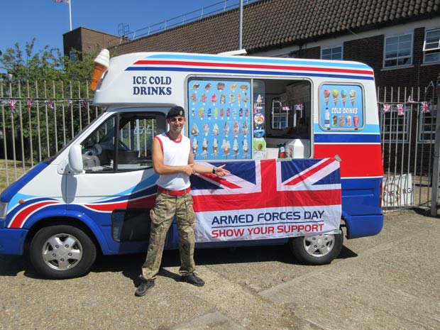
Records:
M358 130L363 127L363 92L358 85L323 84L319 92L323 130Z

